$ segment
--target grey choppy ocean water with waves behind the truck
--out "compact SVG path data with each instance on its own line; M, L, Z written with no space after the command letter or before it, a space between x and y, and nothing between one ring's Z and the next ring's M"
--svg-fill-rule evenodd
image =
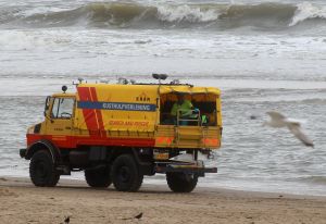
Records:
M199 186L326 196L322 0L1 0L0 175L28 176L18 149L43 119L45 96L62 85L74 91L78 77L152 73L222 89L223 146L209 161L218 173ZM263 127L271 110L304 121L315 148Z

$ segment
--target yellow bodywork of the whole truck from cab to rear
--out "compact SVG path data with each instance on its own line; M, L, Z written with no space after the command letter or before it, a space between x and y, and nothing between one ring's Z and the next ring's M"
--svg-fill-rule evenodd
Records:
M167 85L120 85L120 84L79 84L78 88L93 88L96 96L91 95L91 103L123 103L154 107L149 111L87 109L95 111L97 126L102 129L89 129L85 108L78 107L83 100L78 91L76 94L55 94L55 98L75 98L73 117L68 120L46 120L41 133L55 136L57 140L65 140L65 136L90 136L90 132L105 132L109 138L141 138L154 139L155 148L206 148L217 149L221 146L221 91L213 87L167 86ZM168 95L175 101L175 92L188 94L188 97L197 95L200 100L216 101L215 126L175 126L160 124L160 101L167 100ZM200 94L204 97L200 97ZM164 97L163 97L164 96ZM92 98L97 99L92 99ZM162 98L162 99L161 99ZM214 100L214 101L213 101ZM85 100L84 100L85 101ZM88 101L86 103L88 103ZM163 102L162 101L162 102ZM52 108L53 99L50 101ZM92 104L93 107L93 104ZM50 112L47 112L48 115Z

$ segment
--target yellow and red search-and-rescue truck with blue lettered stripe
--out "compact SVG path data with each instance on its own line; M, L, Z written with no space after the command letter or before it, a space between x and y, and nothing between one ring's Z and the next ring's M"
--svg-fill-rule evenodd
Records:
M51 187L60 175L85 171L91 187L136 191L145 175L166 174L168 187L190 192L198 177L216 173L199 154L221 147L221 92L178 82L88 84L76 92L47 97L45 121L27 130L36 186Z

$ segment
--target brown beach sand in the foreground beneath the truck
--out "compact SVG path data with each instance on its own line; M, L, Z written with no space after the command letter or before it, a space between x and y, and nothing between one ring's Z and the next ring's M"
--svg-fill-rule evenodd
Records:
M142 213L141 219L135 219ZM326 197L198 187L174 194L142 185L138 192L92 189L82 181L35 187L28 178L0 177L0 223L326 223Z

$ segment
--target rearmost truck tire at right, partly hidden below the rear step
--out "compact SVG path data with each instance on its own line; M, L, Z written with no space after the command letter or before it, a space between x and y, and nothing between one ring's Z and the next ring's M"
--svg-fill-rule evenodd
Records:
M196 174L166 173L166 182L174 192L191 192L198 182Z

